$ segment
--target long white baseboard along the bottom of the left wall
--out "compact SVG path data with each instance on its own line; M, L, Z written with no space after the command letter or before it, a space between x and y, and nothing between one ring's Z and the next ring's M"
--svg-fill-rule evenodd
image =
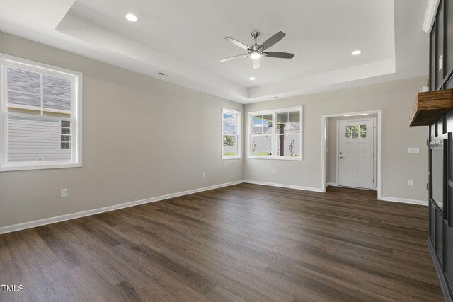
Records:
M99 209L92 209L92 210L88 210L88 211L79 211L77 213L66 214L66 215L62 215L62 216L55 216L55 217L50 217L50 218L46 218L46 219L18 223L18 224L13 224L12 226L2 226L2 227L0 227L0 234L21 231L21 230L24 230L25 228L35 228L36 226L45 226L46 224L50 224L50 223L57 223L57 222L61 222L61 221L67 221L67 220L81 218L81 217L90 216L90 215L94 215L94 214L100 214L100 213L104 213L106 211L114 211L117 209L134 207L139 204L147 204L149 202L159 202L160 200L164 200L164 199L170 199L170 198L179 197L179 196L183 196L183 195L194 194L197 192L218 189L219 187L229 187L230 185L238 185L240 183L243 183L243 180L239 180L239 181L235 181L235 182L226 182L226 183L222 183L219 185L212 185L210 187L201 187L199 189L177 192L177 193L172 193L172 194L166 194L166 195L151 197L151 198L147 198L147 199L136 200L134 202L125 202L124 204L115 204L113 206L103 207L103 208L99 208Z

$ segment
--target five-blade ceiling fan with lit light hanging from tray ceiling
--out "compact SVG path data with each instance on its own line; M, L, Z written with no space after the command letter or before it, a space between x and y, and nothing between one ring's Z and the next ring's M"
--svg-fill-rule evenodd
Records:
M233 39L232 37L226 37L225 40L233 43L236 46L241 47L244 50L247 50L247 54L239 54L238 56L234 57L229 57L226 59L221 59L220 62L226 62L232 59L236 59L239 57L251 57L252 62L253 62L253 69L260 68L260 57L273 57L273 58L280 58L280 59L292 59L294 57L294 54L290 54L289 52L265 52L269 47L275 45L278 41L282 40L283 37L285 37L285 33L282 31L279 31L272 37L270 37L268 40L265 40L265 42L262 45L258 45L256 43L256 38L260 35L259 32L254 31L251 33L253 39L255 39L255 44L251 45L248 47L247 45L243 44L243 42L239 42L236 39Z

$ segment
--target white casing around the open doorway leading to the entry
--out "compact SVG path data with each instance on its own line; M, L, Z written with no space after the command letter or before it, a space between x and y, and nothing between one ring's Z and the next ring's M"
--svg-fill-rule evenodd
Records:
M370 110L360 112L334 113L321 116L321 190L326 192L326 138L327 138L327 118L344 116L377 115L377 199L381 199L381 137L382 137L382 112L381 110Z

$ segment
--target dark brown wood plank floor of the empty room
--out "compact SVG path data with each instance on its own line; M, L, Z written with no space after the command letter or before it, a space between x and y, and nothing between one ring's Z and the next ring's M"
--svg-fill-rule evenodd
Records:
M0 236L0 301L443 301L428 207L234 185Z

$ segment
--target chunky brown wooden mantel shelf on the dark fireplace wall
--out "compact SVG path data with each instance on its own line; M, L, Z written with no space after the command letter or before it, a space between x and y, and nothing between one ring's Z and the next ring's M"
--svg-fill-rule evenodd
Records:
M411 126L429 126L453 109L453 89L420 92L412 108Z

